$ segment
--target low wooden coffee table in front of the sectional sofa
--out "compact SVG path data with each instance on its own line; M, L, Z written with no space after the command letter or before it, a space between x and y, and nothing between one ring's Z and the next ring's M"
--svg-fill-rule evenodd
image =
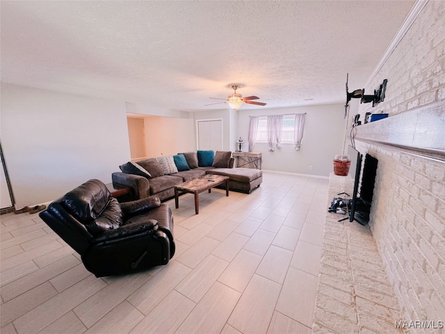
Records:
M229 177L221 175L204 175L199 179L184 182L175 186L175 206L179 207L179 191L181 193L195 194L195 214L200 213L200 197L198 196L202 191L209 190L215 186L225 183L225 196L229 196Z

